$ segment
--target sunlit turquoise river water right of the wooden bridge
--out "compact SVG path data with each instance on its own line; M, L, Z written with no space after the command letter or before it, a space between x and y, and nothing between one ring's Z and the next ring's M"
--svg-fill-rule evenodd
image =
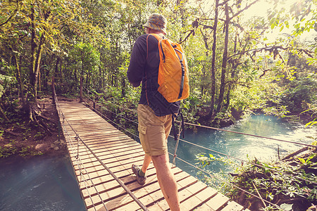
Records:
M223 129L309 144L313 140L307 138L306 136L317 137L316 127L305 128L302 124L292 124L278 119L277 117L266 115L251 115L246 119L237 122L237 124ZM198 128L197 133L188 129L185 131L184 140L212 149L213 151L218 151L235 158L240 158L242 160L248 160L248 158L257 158L260 161L277 160L278 148L280 151L280 158L283 158L288 153L297 151L299 148L303 147L294 143L285 143L254 136L246 136L203 128ZM174 154L175 141L172 138L168 139L168 151L169 153ZM213 151L201 149L197 146L192 146L189 143L180 141L177 155L178 158L195 165L197 162L195 160L197 154L206 153L208 155L211 153L217 157L219 154ZM173 158L170 156L170 161L172 160ZM238 165L241 165L240 160L234 158L232 160L236 161ZM189 174L192 174L192 176L197 175L197 170L185 162L176 160L176 165ZM217 173L220 172L220 170L228 172L231 168L223 165L221 162L211 162L211 165L206 166L205 170L211 170L212 172Z

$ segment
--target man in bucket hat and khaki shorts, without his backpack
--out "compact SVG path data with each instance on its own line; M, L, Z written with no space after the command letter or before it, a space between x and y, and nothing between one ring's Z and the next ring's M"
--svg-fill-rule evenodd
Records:
M157 91L159 72L158 40L150 34L166 35L166 18L154 13L149 16L144 25L146 34L137 38L133 46L128 79L133 87L142 82L142 92L137 107L139 120L139 139L144 150L144 160L141 168L132 165L132 171L137 176L139 184L145 184L147 167L153 161L157 179L170 210L180 210L178 187L174 174L170 170L168 160L167 139L172 127L172 115L178 113L180 102L168 103Z

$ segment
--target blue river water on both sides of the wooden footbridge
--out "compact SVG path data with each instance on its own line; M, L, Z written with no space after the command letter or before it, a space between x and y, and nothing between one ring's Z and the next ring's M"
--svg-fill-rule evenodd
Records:
M312 139L306 136L317 136L316 128L305 128L266 115L251 115L225 129L302 143L311 143ZM185 132L185 140L243 160L247 160L247 156L250 159L276 160L278 147L281 157L302 147L213 129L198 129L197 133L189 129ZM173 154L173 139L168 140L168 148ZM179 158L195 164L198 153L217 155L180 141L177 151ZM176 165L197 177L197 170L185 162L177 160ZM228 167L217 162L205 169L228 171ZM85 210L69 157L0 160L0 210Z

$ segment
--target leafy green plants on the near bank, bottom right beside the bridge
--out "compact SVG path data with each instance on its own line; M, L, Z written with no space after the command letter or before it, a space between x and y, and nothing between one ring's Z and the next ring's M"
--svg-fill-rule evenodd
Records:
M316 144L315 139L312 145ZM203 167L211 162L227 165L232 173L210 172L211 177L200 174L204 174L204 181L218 186L223 194L249 210L316 210L316 152L314 147L304 147L274 162L249 158L249 162L237 164L211 154L197 155L197 161Z

